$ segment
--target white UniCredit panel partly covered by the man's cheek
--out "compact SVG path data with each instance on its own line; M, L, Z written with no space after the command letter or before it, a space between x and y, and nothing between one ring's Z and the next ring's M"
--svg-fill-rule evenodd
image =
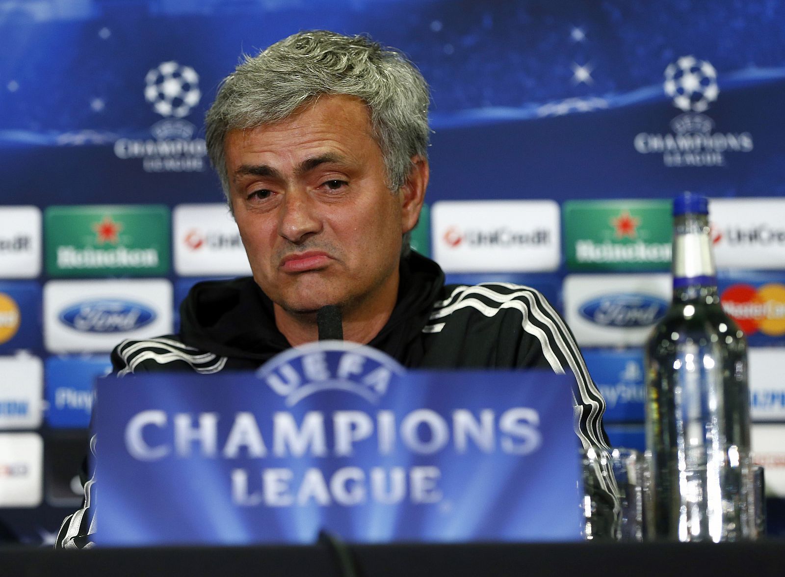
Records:
M225 203L175 206L173 240L178 275L250 275L239 230Z

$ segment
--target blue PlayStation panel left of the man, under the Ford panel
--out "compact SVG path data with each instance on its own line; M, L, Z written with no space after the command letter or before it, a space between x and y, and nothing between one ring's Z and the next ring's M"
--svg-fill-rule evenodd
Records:
M44 364L46 423L54 429L87 429L95 379L110 371L108 355L49 357Z

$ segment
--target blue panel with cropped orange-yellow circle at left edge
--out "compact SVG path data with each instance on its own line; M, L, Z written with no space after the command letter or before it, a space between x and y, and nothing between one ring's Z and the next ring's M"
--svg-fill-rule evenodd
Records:
M41 348L41 285L0 282L0 354Z

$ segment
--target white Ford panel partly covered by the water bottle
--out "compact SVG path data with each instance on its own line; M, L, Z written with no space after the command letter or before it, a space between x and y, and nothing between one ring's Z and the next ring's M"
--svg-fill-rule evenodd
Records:
M642 345L670 305L668 274L568 275L564 316L579 345Z

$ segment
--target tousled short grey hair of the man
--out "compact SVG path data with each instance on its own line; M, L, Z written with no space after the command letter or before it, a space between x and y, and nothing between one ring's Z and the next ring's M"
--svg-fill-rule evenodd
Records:
M299 32L246 56L207 111L207 153L227 199L227 133L286 119L322 94L346 94L367 104L393 192L407 181L411 158L427 158L429 90L410 60L366 36Z

